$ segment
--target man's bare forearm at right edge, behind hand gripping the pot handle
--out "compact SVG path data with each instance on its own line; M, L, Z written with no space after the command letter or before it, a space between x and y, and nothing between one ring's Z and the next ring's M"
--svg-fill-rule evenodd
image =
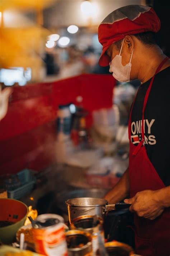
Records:
M170 207L170 186L156 190L156 200L164 207Z

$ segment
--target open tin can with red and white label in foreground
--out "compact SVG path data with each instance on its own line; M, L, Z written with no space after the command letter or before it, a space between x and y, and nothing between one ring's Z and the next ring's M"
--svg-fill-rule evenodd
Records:
M42 214L34 222L32 232L36 252L49 256L67 256L63 218L56 214Z

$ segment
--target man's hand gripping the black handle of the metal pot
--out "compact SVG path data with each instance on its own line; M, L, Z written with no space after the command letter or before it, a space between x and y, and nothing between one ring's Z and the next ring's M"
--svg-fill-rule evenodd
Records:
M165 208L157 197L157 191L152 190L138 192L133 198L125 199L124 202L132 204L129 208L131 212L136 212L139 217L150 220L161 215Z

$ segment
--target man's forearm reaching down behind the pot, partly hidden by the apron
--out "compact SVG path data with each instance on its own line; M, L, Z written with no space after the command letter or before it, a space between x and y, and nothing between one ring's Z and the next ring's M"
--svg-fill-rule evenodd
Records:
M128 169L124 172L119 182L110 190L106 195L105 199L109 203L118 203L121 200L127 198L129 195L129 172Z

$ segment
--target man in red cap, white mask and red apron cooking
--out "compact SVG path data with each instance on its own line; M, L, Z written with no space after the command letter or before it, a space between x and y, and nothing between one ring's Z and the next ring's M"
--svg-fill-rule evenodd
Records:
M129 167L105 196L131 204L136 252L170 255L170 60L156 43L160 20L148 6L110 13L98 30L99 65L118 81L141 81L129 117Z

